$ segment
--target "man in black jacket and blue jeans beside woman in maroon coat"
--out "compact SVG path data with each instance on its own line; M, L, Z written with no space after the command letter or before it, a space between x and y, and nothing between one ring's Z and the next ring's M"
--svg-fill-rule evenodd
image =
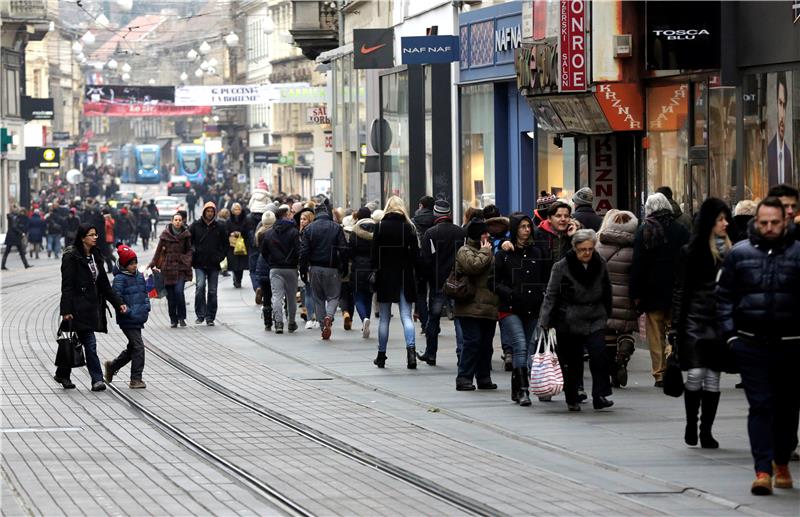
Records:
M217 316L217 281L219 263L228 251L228 235L223 225L217 222L217 206L208 202L203 205L203 216L189 226L192 236L192 267L197 286L194 295L194 312L198 325L206 322L214 325ZM208 286L208 298L206 298Z

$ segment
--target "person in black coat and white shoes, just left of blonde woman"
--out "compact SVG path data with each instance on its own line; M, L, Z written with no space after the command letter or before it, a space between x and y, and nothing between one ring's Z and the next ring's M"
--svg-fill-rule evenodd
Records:
M353 284L353 298L356 311L361 318L361 337L369 339L369 314L372 312L372 286L369 277L372 274L372 236L377 223L370 217L367 207L362 207L355 214L353 232L350 234L348 247L350 252L350 282Z

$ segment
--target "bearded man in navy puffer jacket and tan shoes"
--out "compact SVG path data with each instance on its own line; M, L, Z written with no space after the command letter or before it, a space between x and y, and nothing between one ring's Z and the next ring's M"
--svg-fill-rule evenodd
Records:
M773 474L776 488L792 488L788 463L797 446L800 242L786 235L785 214L777 197L759 203L750 238L725 257L717 286L720 331L750 405L754 495L772 493Z

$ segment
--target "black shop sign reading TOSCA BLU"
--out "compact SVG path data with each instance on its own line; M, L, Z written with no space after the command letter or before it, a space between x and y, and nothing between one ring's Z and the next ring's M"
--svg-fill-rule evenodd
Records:
M719 68L721 4L719 1L645 2L647 68Z

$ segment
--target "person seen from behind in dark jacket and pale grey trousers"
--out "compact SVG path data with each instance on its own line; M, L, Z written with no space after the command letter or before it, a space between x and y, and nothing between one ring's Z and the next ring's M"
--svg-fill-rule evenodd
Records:
M294 225L288 208L275 212L275 224L261 240L261 255L269 264L269 281L272 287L272 317L275 333L283 334L283 300L289 317L289 332L297 330L297 263L300 232Z

